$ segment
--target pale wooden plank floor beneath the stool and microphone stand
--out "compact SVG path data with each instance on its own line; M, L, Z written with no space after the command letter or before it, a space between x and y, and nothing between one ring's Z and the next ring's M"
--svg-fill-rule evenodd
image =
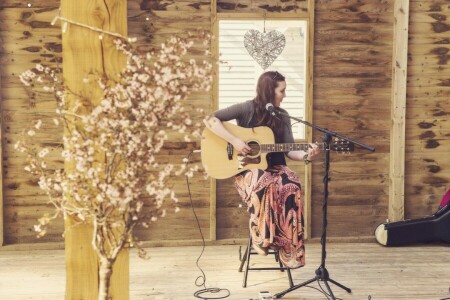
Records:
M253 271L247 288L238 272L239 246L207 246L199 265L206 286L228 289L227 299L258 299L259 291L279 293L288 287L285 273ZM330 277L352 289L351 294L330 284L342 299L433 299L450 297L450 247L444 245L385 248L377 244L328 243L326 267ZM196 260L200 246L149 249L150 260L130 255L130 299L196 299L201 275ZM307 244L307 265L293 270L295 283L311 279L320 265L318 243ZM273 256L252 256L255 266L276 266ZM0 251L0 299L64 299L64 251ZM312 283L311 287L318 288ZM322 283L323 286L323 283ZM211 295L211 294L210 294ZM215 294L217 297L223 294ZM205 296L207 298L208 296ZM212 299L212 298L209 298ZM302 287L282 299L327 299ZM118 299L120 300L120 299Z

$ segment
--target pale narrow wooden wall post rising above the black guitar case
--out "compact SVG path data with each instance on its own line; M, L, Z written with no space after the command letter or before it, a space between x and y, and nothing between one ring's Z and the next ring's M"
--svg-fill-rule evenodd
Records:
M408 66L409 0L394 5L391 143L389 156L389 220L403 220L405 206L405 115Z

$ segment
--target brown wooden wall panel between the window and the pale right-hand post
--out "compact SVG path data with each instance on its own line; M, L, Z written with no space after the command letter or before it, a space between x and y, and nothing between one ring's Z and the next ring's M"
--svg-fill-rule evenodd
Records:
M330 237L370 236L386 219L392 10L391 1L316 2L314 122L376 148L331 154ZM314 163L313 237L322 234L323 167Z

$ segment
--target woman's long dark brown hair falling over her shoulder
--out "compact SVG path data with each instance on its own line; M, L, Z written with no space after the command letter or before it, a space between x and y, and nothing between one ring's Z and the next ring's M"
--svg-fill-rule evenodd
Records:
M268 71L259 76L258 84L256 86L256 97L254 99L255 105L255 120L256 126L269 126L275 136L283 133L283 122L272 116L267 110L267 103L272 103L275 99L275 88L278 82L285 81L286 78L278 72Z

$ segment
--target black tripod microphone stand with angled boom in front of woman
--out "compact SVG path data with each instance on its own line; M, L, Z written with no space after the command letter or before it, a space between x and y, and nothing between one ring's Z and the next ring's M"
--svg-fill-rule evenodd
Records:
M312 283L314 281L317 281L317 282L323 281L323 283L325 284L325 287L328 290L328 293L329 293L329 296L331 297L331 299L336 300L336 298L334 297L333 292L331 291L330 285L328 284L328 281L333 283L333 284L335 284L335 285L337 285L341 289L344 289L347 293L351 293L352 290L349 289L348 287L340 284L339 282L331 279L330 275L328 273L328 270L325 267L326 242L327 242L327 223L328 223L327 222L328 181L329 181L329 172L330 172L330 149L329 149L329 144L330 144L332 138L336 137L336 138L342 139L344 141L347 141L349 143L358 145L361 148L364 148L364 149L366 149L368 151L371 151L371 152L375 151L375 148L367 146L367 145L362 144L362 143L359 143L359 142L357 142L355 140L352 140L352 139L350 139L348 137L340 135L340 134L338 134L338 133L336 133L334 131L328 130L326 128L322 128L322 127L316 126L314 124L311 124L311 123L309 123L307 121L303 121L302 119L299 119L299 118L296 118L296 117L291 117L288 114L277 110L273 106L269 106L269 107L266 107L266 108L267 108L268 111L270 111L270 113L273 116L277 116L277 115L286 116L286 117L288 117L288 118L290 118L292 120L295 120L297 122L303 123L303 124L313 128L313 129L317 129L318 131L323 132L324 135L323 135L322 139L323 139L323 142L324 142L324 149L325 149L325 151L324 151L325 152L325 176L323 178L323 185L324 185L324 194L323 195L324 195L324 197L323 197L323 206L322 206L322 237L320 239L320 243L322 244L322 260L321 260L321 264L320 264L319 268L315 272L316 276L314 276L313 278L311 278L311 279L309 279L309 280L307 280L307 281L305 281L303 283L294 285L294 286L290 287L289 289L287 289L285 291L282 291L282 292L280 292L278 294L275 294L274 296L275 296L275 298L278 299L278 298L283 297L287 293L290 293L290 292L292 292L292 291L294 291L294 290L296 290L298 288L306 286L306 285L308 285L308 284L310 284L310 283Z

